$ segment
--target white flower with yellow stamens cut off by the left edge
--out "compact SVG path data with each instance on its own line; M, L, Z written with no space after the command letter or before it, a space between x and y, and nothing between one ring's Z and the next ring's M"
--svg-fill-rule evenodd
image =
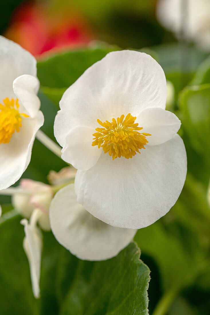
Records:
M0 36L0 69L0 189L5 189L26 170L44 116L35 58Z

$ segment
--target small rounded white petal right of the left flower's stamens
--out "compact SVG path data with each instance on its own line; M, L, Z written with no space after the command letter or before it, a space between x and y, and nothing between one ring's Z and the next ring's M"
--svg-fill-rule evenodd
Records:
M38 78L28 74L17 77L13 82L15 95L31 118L34 118L37 115L41 105L37 96L39 86Z

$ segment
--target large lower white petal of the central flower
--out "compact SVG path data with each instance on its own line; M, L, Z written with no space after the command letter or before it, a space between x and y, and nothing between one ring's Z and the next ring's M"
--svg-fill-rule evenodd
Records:
M113 226L142 228L165 215L182 191L187 171L179 135L141 154L114 161L101 154L95 166L78 170L77 201L96 218Z

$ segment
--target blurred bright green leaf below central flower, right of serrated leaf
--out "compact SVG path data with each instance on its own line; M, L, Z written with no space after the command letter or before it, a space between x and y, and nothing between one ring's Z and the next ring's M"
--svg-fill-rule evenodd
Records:
M164 291L179 288L191 282L190 260L185 248L176 236L171 235L160 221L140 229L134 238L143 254L151 256L157 263Z

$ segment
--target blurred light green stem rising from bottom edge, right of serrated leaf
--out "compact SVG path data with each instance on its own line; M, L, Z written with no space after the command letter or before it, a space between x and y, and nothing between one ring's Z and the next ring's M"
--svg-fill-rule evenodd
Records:
M170 290L166 291L156 305L152 315L165 315L177 295L177 288L171 288Z

